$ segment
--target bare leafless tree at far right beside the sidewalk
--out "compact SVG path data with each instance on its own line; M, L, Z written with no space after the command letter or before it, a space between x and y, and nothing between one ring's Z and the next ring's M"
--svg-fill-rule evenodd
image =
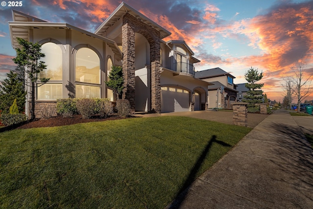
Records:
M312 78L311 75L305 78L305 62L303 61L297 60L291 70L295 74L295 77L291 78L294 84L292 90L297 97L297 112L300 113L301 102L310 95Z

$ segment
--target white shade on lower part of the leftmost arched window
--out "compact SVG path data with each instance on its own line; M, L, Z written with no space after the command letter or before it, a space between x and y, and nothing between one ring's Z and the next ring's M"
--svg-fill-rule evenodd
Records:
M50 100L62 98L62 84L37 84L37 99Z

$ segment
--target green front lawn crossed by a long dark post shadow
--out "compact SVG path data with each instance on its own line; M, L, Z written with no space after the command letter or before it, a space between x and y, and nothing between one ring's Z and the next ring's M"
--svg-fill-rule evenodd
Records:
M164 208L250 130L162 116L3 132L0 208Z

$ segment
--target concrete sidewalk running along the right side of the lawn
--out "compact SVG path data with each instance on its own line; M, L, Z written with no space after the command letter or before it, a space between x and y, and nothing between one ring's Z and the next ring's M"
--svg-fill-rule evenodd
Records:
M301 118L275 111L167 208L312 209L313 149L301 129L313 131L313 117Z

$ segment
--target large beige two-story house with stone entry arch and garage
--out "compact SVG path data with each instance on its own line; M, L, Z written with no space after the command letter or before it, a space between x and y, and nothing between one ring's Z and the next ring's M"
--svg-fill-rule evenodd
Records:
M12 46L17 37L42 44L49 82L36 90L36 114L58 98L115 99L105 85L112 65L122 66L123 98L134 111L204 110L207 86L195 78L200 60L184 41L162 41L171 33L122 2L94 33L67 23L49 23L12 10ZM29 91L28 91L29 92ZM26 110L29 114L30 95Z

